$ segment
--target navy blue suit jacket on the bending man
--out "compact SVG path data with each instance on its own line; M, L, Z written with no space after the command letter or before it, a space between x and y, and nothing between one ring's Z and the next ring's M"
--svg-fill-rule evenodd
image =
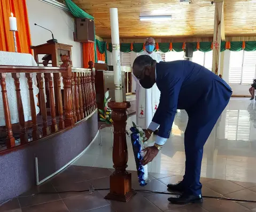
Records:
M229 85L212 71L187 60L157 63L156 74L161 95L152 121L160 125L158 136L163 138L169 138L177 109L189 110L202 102L207 107L214 98L220 98L216 96L218 92L206 95L211 89L224 89L229 94L232 92Z

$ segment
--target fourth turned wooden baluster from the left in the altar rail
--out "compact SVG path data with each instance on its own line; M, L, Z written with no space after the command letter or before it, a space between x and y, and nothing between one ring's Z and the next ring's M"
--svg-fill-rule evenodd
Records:
M50 134L50 130L47 124L47 112L46 112L46 104L45 104L45 97L44 97L44 74L37 74L39 85L39 94L40 94L40 109L41 115L43 120L43 136Z

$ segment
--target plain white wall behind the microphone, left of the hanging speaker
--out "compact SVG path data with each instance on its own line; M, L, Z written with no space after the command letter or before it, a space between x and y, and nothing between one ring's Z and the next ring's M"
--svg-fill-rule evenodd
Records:
M64 10L39 0L26 0L32 45L41 45L51 39L51 32L35 26L34 23L53 32L59 43L72 45L73 67L82 68L82 44L74 42L74 20Z

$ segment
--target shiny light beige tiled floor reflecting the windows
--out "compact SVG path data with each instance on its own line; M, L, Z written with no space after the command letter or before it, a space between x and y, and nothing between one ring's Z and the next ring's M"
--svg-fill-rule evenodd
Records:
M128 119L136 121L135 116ZM149 165L149 172L183 175L185 172L184 131L188 116L178 110L172 135L158 156ZM209 136L201 166L201 177L256 183L256 103L248 98L231 98ZM129 131L129 127L127 127ZM102 129L99 138L74 165L112 168L110 129ZM151 141L154 137L151 138ZM136 170L130 138L127 136L128 169Z

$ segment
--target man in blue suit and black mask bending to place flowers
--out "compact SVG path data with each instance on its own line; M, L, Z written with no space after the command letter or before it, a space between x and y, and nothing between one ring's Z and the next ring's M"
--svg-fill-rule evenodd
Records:
M187 111L185 175L181 182L168 184L170 190L182 194L168 200L175 204L203 201L200 183L203 148L229 102L231 88L210 70L187 60L157 63L150 56L141 55L134 61L133 73L144 88L157 83L161 92L158 109L145 134L149 138L158 127L159 132L154 146L144 150L142 164L151 162L169 138L176 110Z

